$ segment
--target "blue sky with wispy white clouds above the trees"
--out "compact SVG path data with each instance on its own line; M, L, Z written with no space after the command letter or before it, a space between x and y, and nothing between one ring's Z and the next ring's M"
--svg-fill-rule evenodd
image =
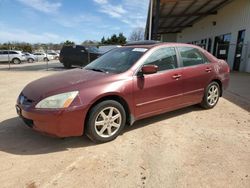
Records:
M98 40L145 27L149 0L0 0L0 43Z

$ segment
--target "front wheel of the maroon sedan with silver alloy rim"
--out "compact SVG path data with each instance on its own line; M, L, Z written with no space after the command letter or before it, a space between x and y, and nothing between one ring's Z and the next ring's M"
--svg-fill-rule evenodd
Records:
M86 135L96 143L109 142L121 133L125 123L126 113L123 106L113 100L103 101L90 110Z

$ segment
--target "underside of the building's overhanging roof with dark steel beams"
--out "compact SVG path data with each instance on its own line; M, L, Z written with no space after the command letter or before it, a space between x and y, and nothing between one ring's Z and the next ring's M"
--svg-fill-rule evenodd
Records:
M217 14L217 11L233 0L152 0L152 39L160 34L179 33L192 27L200 19ZM150 6L146 25L149 33Z

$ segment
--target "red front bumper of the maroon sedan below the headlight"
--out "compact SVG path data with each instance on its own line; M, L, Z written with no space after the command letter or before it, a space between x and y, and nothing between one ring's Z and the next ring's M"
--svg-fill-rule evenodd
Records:
M56 137L81 136L86 116L84 109L38 110L16 105L17 114L27 126Z

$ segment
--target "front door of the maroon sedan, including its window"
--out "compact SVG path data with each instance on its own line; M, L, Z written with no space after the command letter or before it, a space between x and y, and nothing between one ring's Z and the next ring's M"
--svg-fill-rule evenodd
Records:
M174 47L154 51L144 65L157 65L158 72L135 76L134 106L136 119L178 108L182 103L182 72L178 69Z

